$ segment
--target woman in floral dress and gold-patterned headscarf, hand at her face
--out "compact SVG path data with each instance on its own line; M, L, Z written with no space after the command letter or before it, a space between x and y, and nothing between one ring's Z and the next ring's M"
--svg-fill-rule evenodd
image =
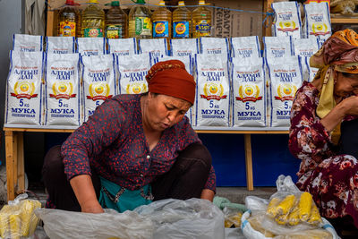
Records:
M358 227L358 161L339 154L340 124L358 115L358 36L342 30L311 56L320 68L297 91L291 112L289 149L302 159L297 186L311 192L326 218L354 219Z

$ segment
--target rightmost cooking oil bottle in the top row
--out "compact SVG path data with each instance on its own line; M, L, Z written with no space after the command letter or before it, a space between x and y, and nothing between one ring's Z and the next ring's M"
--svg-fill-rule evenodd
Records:
M192 11L192 38L209 37L211 33L211 12L204 0L199 5Z

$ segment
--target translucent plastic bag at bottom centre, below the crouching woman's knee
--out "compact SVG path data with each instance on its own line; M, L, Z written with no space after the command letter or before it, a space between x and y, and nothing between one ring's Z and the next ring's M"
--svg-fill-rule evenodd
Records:
M168 199L154 201L134 211L155 224L155 239L223 239L224 214L210 201Z

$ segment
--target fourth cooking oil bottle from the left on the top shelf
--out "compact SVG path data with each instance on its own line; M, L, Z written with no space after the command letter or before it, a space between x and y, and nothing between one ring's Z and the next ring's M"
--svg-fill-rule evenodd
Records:
M144 0L137 0L129 12L129 37L130 38L151 38L150 10Z

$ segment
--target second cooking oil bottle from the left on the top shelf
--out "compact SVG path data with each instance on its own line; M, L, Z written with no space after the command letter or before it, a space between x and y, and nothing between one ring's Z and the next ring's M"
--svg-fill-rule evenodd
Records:
M81 14L81 37L105 37L105 12L99 7L98 0L90 0L89 6Z

